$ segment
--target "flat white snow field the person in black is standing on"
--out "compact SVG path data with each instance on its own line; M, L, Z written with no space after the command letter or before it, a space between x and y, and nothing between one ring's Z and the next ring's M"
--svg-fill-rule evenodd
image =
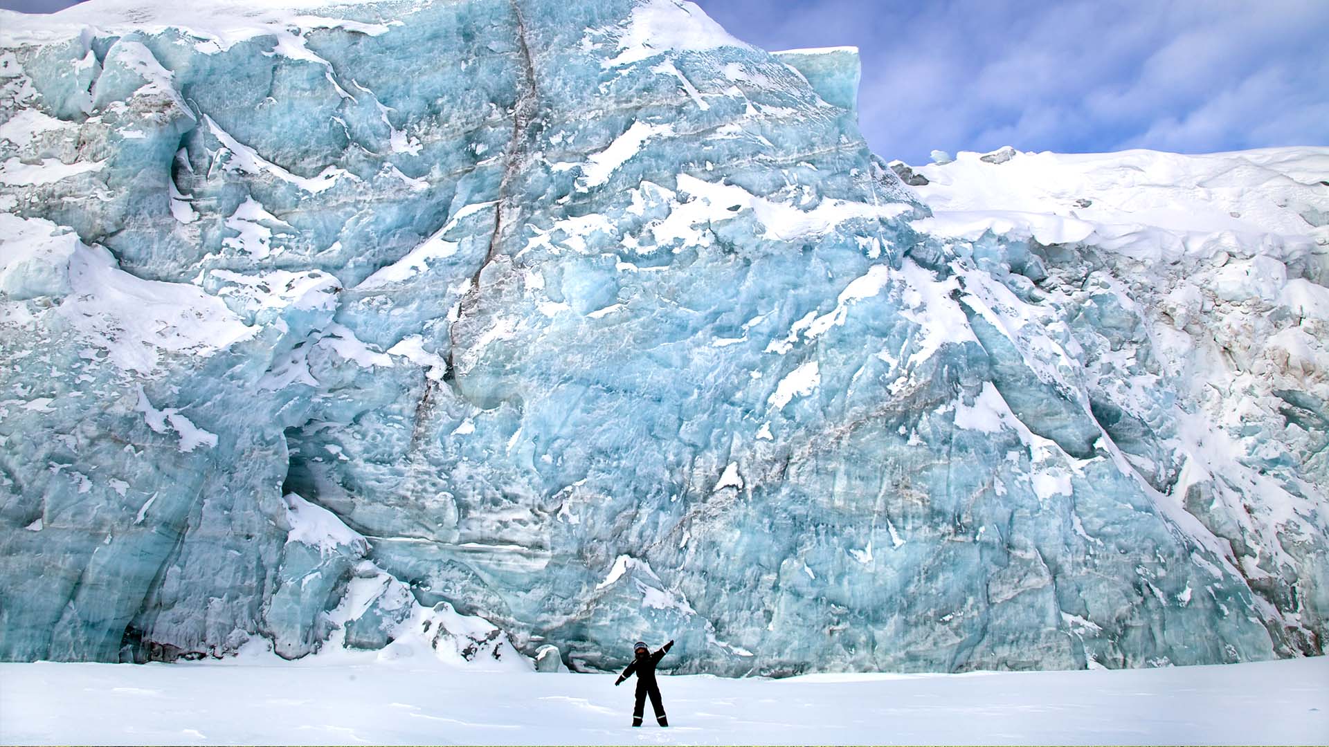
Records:
M432 665L432 662L429 662ZM7 744L1325 744L1329 659L1123 671L666 677L404 662L0 665Z

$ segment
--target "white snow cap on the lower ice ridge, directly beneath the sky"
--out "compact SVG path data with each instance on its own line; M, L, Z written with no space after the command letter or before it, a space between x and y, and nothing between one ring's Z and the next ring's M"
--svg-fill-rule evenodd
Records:
M942 156L938 152L938 156ZM1285 261L1329 239L1329 149L1265 148L1181 156L962 152L914 167L933 209L917 227L977 239L1084 242L1123 257L1177 262L1265 254Z

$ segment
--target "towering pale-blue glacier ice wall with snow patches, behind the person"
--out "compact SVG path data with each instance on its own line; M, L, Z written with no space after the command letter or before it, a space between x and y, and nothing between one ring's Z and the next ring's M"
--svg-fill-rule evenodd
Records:
M1322 149L1112 234L690 3L296 5L0 17L0 657L1320 651Z

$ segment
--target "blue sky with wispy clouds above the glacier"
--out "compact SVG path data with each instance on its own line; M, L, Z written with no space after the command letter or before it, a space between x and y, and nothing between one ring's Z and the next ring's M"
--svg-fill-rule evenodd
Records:
M698 3L766 49L859 47L859 118L886 158L1329 145L1329 0Z

